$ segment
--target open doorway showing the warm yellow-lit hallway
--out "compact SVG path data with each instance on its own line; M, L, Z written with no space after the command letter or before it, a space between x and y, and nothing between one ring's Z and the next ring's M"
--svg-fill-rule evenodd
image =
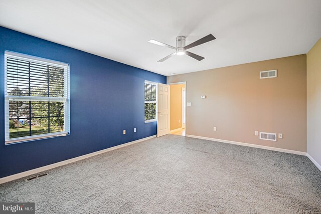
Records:
M186 83L171 83L170 133L185 136L186 134Z

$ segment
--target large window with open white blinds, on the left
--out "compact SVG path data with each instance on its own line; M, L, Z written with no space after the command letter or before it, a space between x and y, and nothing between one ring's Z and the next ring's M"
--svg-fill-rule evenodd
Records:
M69 134L69 65L5 53L6 144Z

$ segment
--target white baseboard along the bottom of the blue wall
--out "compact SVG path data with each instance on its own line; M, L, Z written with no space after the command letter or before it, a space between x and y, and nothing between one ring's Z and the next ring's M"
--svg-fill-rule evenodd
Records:
M154 137L156 137L156 135L152 135L152 136L145 137L145 138L142 138L142 139L139 139L139 140L135 140L135 141L131 141L131 142L128 142L128 143L120 144L118 146L113 146L113 147L110 147L110 148L107 148L107 149L103 149L103 150L100 150L100 151L92 152L92 153L85 154L85 155L82 155L82 156L79 156L79 157L74 157L74 158L71 158L71 159L68 159L68 160L64 160L64 161L60 161L60 162L57 162L57 163L53 163L53 164L50 164L50 165L47 165L47 166L42 166L42 167L31 169L31 170L28 170L28 171L20 172L18 174L13 174L13 175L10 175L10 176L7 176L7 177L3 177L3 178L0 178L0 184L6 183L6 182L9 182L9 181L12 181L12 180L16 180L16 179L19 179L19 178L22 178L22 177L26 177L26 176L29 176L29 175L32 175L32 174L36 174L36 173L39 173L39 172L42 172L42 171L46 171L46 170L49 170L49 169L52 169L52 168L56 168L58 166L63 166L63 165L66 165L66 164L69 164L69 163L72 163L72 162L76 162L78 160L86 159L88 157L92 157L92 156L95 156L95 155L98 155L98 154L102 154L102 153L105 153L107 151L115 150L115 149L118 149L118 148L121 148L121 147L124 147L124 146L129 146L129 145L134 144L134 143L139 143L141 141L148 140L148 139L151 139L151 138L154 138Z

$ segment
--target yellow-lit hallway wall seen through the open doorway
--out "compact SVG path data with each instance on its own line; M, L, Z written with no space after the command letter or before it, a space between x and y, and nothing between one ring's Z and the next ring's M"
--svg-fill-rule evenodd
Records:
M171 130L182 127L182 88L184 84L171 85Z

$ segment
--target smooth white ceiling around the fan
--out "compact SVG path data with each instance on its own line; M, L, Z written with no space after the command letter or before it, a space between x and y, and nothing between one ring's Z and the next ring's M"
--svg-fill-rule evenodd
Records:
M320 0L0 0L0 25L166 76L307 53L321 37ZM208 34L189 51L159 59Z

